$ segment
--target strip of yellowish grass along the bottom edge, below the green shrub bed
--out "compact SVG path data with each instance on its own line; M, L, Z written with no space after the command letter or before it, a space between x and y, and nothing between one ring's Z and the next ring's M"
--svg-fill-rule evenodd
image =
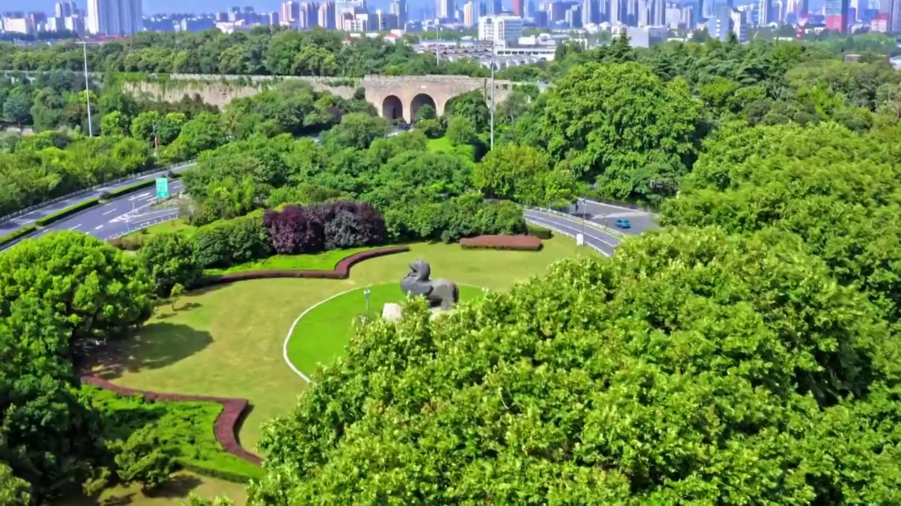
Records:
M141 485L118 486L105 490L98 501L80 496L77 492L67 494L66 497L50 504L52 506L176 506L187 501L188 493L194 492L204 499L212 499L218 495L226 495L234 501L236 506L243 506L247 502L247 493L244 485L229 483L214 478L208 478L188 472L173 474L168 484L159 491L153 492L152 497L141 492Z

